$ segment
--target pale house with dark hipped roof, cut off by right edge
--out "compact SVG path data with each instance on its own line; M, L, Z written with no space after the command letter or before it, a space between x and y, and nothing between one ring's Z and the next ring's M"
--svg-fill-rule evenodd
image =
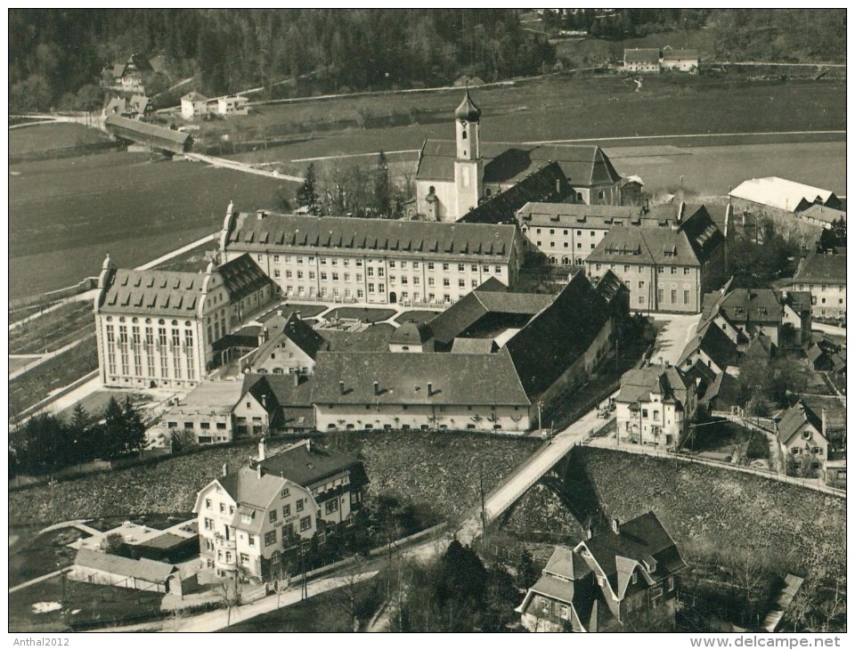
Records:
M812 252L793 276L793 290L810 292L810 312L818 320L846 320L846 249Z

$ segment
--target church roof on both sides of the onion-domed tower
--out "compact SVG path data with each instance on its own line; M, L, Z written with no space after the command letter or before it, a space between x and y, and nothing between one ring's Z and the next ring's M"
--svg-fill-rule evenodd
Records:
M617 183L621 175L607 155L596 145L525 144L482 142L485 158L484 183L516 183L547 163L557 162L573 186ZM451 182L457 144L453 140L427 140L419 154L419 181Z

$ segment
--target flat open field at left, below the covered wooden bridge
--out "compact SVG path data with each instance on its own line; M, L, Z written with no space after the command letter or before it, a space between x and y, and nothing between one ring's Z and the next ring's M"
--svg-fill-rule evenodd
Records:
M12 171L20 174L9 178L12 298L95 275L108 251L119 266L147 262L219 229L229 199L240 210L274 207L293 184L126 152Z

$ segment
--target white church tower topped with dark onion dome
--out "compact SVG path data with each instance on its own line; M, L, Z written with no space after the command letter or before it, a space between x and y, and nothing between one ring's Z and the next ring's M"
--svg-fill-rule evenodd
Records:
M454 111L457 157L454 159L454 185L457 205L452 220L457 220L478 205L484 196L484 158L481 158L479 133L481 109L466 90L466 96ZM449 215L451 216L451 215Z

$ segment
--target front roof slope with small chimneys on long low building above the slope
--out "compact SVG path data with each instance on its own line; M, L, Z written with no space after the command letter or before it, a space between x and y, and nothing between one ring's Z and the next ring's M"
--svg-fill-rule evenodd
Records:
M495 354L322 352L314 373L316 404L530 403L506 350ZM344 382L343 393L339 381ZM379 394L375 394L375 381Z

